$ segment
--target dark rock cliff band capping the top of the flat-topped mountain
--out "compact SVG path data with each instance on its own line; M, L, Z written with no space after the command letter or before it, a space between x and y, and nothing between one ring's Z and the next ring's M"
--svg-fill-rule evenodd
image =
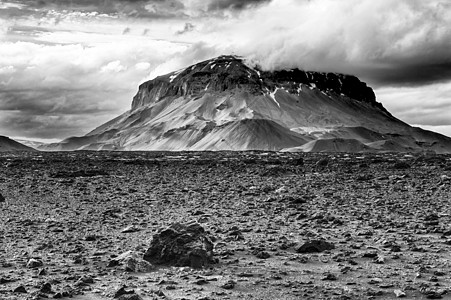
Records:
M241 58L220 56L143 83L133 99L132 110L165 97L195 96L206 91L245 88L252 93L262 94L264 91L284 88L295 93L300 84L382 107L376 102L373 90L355 76L299 69L262 71L258 67L247 66Z

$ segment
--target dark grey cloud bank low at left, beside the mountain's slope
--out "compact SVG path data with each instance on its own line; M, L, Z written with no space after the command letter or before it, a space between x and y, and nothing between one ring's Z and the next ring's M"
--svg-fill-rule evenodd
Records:
M8 136L63 139L82 135L116 116L102 104L116 91L30 90L0 92L0 128ZM130 95L124 93L124 98Z

